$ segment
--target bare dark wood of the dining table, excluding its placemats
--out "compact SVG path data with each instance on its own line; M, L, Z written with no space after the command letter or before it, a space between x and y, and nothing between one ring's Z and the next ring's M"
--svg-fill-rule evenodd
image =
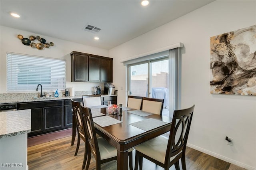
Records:
M98 111L106 114L106 108L98 109ZM107 116L122 121L122 123L117 123L106 127L101 127L100 125L94 123L94 127L100 136L106 139L117 149L117 170L128 169L128 149L170 131L172 123L172 118L156 114L142 117L128 113L128 111L122 111L122 116ZM143 121L149 118L164 121L167 124L148 131L130 125L130 123Z

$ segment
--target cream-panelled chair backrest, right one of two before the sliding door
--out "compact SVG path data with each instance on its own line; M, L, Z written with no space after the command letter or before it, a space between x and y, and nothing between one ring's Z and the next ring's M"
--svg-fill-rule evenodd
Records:
M142 98L142 111L162 115L164 99Z

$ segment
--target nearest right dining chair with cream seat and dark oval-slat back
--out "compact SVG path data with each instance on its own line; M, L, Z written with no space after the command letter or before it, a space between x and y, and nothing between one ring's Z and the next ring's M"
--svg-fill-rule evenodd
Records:
M138 169L138 164L142 170L143 157L165 170L169 170L173 164L176 170L179 170L179 159L181 158L182 170L186 170L186 144L194 107L195 105L188 109L174 111L169 138L158 136L134 147L136 150L135 170Z

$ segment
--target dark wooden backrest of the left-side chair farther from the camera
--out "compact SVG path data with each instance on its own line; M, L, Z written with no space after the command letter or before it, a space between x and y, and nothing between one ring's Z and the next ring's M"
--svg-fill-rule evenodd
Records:
M73 108L73 114L75 116L75 122L76 122L76 127L79 133L80 138L82 138L82 140L85 141L85 132L84 132L84 128L83 128L83 122L81 119L81 113L80 113L80 102L79 101L74 101L72 99L71 103L72 103L72 108Z

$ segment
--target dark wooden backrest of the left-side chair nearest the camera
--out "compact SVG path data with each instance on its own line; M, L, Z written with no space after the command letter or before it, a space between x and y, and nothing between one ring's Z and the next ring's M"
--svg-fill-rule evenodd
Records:
M81 115L83 117L85 134L88 142L88 147L92 151L92 154L96 162L100 162L100 150L98 146L98 140L96 137L96 131L92 120L92 112L88 107L84 107L80 103ZM87 143L86 143L87 144Z

